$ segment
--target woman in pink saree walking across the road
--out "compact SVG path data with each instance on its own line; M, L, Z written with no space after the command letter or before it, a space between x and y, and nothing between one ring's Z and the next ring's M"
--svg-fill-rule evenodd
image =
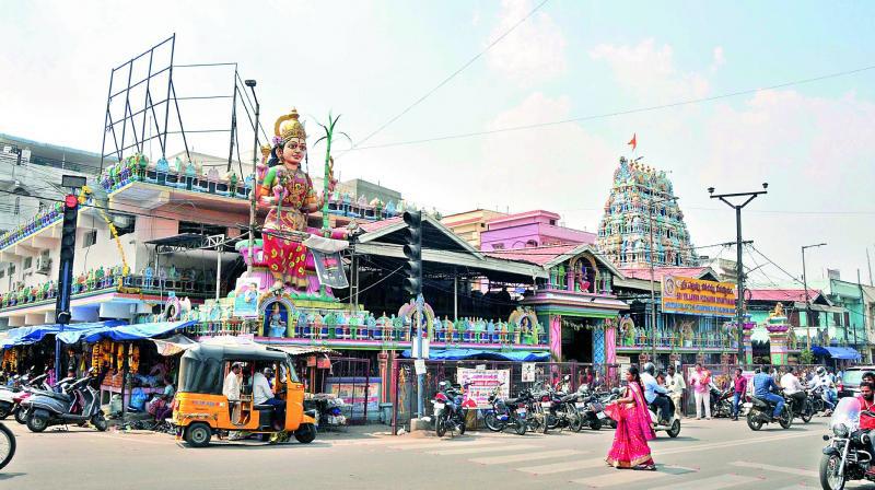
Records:
M637 366L626 373L626 395L605 407L605 412L617 421L614 445L608 452L607 463L615 468L654 470L648 441L656 434L650 425L650 412L644 402L644 389Z

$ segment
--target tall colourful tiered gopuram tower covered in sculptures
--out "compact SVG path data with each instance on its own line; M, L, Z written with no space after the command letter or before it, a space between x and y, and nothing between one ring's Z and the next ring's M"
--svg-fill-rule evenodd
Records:
M665 172L620 158L596 246L620 267L650 266L650 226L656 266L691 266L696 253Z

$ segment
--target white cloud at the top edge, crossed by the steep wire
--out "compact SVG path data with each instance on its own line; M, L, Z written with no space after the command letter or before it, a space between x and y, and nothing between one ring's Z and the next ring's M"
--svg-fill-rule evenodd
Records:
M520 22L533 9L530 0L504 0L491 43ZM544 12L536 12L487 54L489 66L521 86L533 86L561 75L568 69L567 40L559 25Z

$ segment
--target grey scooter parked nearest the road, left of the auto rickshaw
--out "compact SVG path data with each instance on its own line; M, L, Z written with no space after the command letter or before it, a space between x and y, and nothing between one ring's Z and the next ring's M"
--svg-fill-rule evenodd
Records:
M27 429L43 432L49 425L91 422L95 429L106 430L106 418L101 411L100 394L90 386L91 376L69 385L67 393L40 392L30 398Z

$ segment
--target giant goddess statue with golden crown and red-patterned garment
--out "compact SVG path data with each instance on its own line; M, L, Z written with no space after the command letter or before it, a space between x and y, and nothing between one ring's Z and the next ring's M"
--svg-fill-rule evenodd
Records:
M264 253L275 288L290 285L306 291L307 250L301 243L305 237L295 232L307 231L307 213L322 208L325 196L317 196L310 175L301 168L306 159L307 142L304 125L294 108L273 125L273 148L268 171L258 187L258 202L270 207L264 225ZM334 190L328 175L329 191Z

